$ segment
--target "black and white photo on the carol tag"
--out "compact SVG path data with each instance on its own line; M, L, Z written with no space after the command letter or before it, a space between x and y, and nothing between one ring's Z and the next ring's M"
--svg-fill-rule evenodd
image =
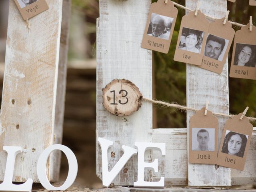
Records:
M234 65L255 67L255 52L256 45L237 43L234 57Z

